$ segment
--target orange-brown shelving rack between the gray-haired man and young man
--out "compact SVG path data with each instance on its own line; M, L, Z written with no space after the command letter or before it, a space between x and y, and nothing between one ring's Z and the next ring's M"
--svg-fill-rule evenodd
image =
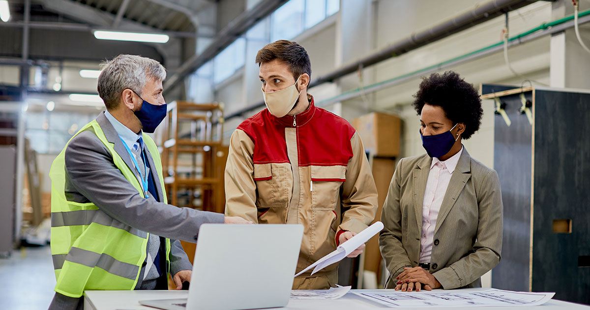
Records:
M223 103L175 101L162 126L162 170L169 203L222 213L225 208Z

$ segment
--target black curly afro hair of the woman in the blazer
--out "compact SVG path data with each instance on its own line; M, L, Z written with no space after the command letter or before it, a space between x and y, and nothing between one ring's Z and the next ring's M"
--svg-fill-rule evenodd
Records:
M412 106L418 115L421 115L424 105L440 106L453 125L464 123L463 139L469 139L481 125L483 109L480 95L472 84L454 71L422 77L414 98Z

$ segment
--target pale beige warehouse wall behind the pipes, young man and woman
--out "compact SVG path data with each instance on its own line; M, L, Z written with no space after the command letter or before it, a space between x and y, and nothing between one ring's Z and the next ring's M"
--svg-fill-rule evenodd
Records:
M449 0L444 1L443 4L436 0L342 0L339 13L296 38L291 38L291 40L299 42L306 48L312 61L313 77L318 77L342 64L350 63L372 51L385 48L389 44L408 37L413 32L425 30L458 14L458 12L472 9L474 5L483 2L486 1ZM590 1L582 1L581 10L588 8L590 8ZM509 13L509 33L510 35L519 34L572 12L573 9L568 1L562 0L556 3L539 1ZM478 50L501 40L504 22L504 16L491 19L407 54L365 68L360 73L349 74L335 83L314 87L309 92L314 94L316 103L321 105L322 100L347 90L366 87L378 81L392 79ZM586 85L590 83L588 79L581 82L579 78L580 74L587 75L587 69L573 72L572 64L582 64L586 68L590 68L590 63L586 60L588 57L581 53L577 41L573 41L575 37L572 40L572 32L573 30L567 31L563 38L567 45L562 44L563 46L561 46L552 42L552 40L556 41L555 39L543 37L509 48L509 58L513 68L526 79L535 81L533 83L536 85L550 84L550 64L552 63L553 75L556 76L559 73L562 76L560 80L563 83L562 86L590 87L590 84ZM582 35L590 42L588 26L582 27ZM556 57L553 45L558 45L563 50L567 47L567 50L562 51L562 54L569 56L569 58ZM571 60L572 54L577 58ZM227 111L238 110L262 100L257 77L258 67L253 64L255 48L250 47L247 56L245 70L243 73L239 73L244 74L242 87L247 96L242 96L244 93L235 89L234 82L227 86L227 91L218 90L215 94L215 100L222 100L226 103ZM525 80L509 71L504 63L503 53L496 53L446 70L457 71L466 81L473 83L476 87L480 83L520 85ZM232 79L237 80L235 77ZM376 93L324 106L324 108L332 110L348 120L375 110L396 113L402 118L401 156L424 154L418 133L419 117L411 106L412 94L417 91L420 81L418 78L409 80ZM488 167L493 167L494 103L493 100L485 100L483 105L484 116L481 128L471 139L464 141L464 145L471 156ZM226 141L232 130L243 119L232 119L226 123ZM484 286L490 286L491 275L486 275L483 283Z

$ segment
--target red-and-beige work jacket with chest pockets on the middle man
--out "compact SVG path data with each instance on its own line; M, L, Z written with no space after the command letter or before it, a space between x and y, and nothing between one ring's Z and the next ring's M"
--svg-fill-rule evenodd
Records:
M368 227L377 209L358 133L345 119L314 106L313 97L298 115L276 118L264 109L238 126L225 168L225 196L227 216L303 224L297 272L335 250L343 231ZM314 276L336 271L334 264Z

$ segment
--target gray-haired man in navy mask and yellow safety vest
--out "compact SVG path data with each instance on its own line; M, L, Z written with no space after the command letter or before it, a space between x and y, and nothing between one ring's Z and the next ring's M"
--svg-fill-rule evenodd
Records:
M204 223L240 217L167 204L152 133L166 116L158 61L119 55L98 80L106 111L68 142L51 167L51 254L57 284L50 309L81 309L86 290L176 289L192 266L178 240L196 242Z

